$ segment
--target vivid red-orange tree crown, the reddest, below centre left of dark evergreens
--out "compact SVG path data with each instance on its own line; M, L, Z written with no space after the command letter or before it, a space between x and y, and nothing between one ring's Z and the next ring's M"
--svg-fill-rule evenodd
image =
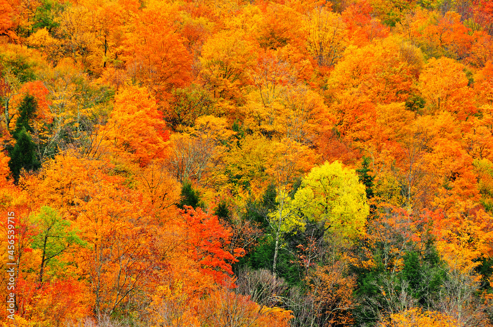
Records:
M229 244L231 232L225 229L217 216L207 214L201 208L194 210L185 206L178 210L178 217L183 220L186 251L192 260L200 262L200 270L211 275L216 283L229 284L232 274L230 262L235 262L233 255L224 250Z

